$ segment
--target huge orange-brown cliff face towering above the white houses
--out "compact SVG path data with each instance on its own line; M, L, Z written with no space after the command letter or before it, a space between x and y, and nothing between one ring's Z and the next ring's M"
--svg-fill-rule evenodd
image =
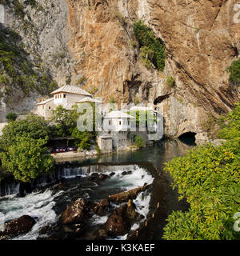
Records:
M50 67L58 82L65 82L66 75L73 83L84 76L84 88L96 91L106 102L113 96L117 102L154 103L164 115L166 134L176 137L186 132L206 137L208 118L227 113L239 101L238 87L230 85L226 73L240 50L236 1L55 2L58 11L49 3L49 13L37 15L34 21L43 24L38 33L44 47L38 51L48 53L46 62L52 63L57 51L56 34L68 46L70 68ZM134 21L139 19L164 42L163 72L142 64L133 34ZM53 52L47 50L49 44ZM174 86L166 85L170 75Z

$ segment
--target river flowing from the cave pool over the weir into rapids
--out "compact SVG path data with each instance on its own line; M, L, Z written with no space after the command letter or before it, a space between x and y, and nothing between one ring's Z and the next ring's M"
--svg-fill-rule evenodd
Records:
M147 216L154 210L157 204L160 207L156 221L139 236L139 239L161 239L162 228L166 223L167 215L172 210L186 210L187 204L183 200L178 201L178 193L172 190L172 179L163 168L164 163L175 156L186 154L194 146L192 141L167 140L158 145L143 148L137 151L119 152L114 154L100 155L95 158L68 159L68 162L58 162L57 178L64 179L66 187L59 189L57 185L49 186L45 190L35 190L24 197L18 197L19 185L14 184L14 189L5 188L9 194L0 198L0 211L5 216L5 221L28 214L36 218L37 223L28 234L19 235L14 239L30 240L37 239L38 232L43 226L58 222L62 211L66 206L78 198L86 200L98 200L107 198L110 194L116 194L124 190L130 190L145 184L152 184L149 193L142 192L134 200L136 211ZM123 171L130 171L128 175L122 175ZM114 176L101 182L89 180L92 173L114 173ZM55 175L56 176L56 175ZM51 177L51 182L56 177ZM46 182L42 180L41 184ZM46 182L47 183L47 182ZM6 185L5 185L6 186ZM56 189L56 187L58 189ZM103 224L107 217L94 215L91 224ZM138 228L141 223L136 223L131 230ZM125 239L126 236L118 237Z

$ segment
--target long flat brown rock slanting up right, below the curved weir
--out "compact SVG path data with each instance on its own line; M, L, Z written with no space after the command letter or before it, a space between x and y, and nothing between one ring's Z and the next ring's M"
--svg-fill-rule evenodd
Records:
M128 190L118 194L110 195L108 198L111 202L115 203L128 202L130 199L135 199L138 193L147 190L149 186L150 185L140 186L134 190Z

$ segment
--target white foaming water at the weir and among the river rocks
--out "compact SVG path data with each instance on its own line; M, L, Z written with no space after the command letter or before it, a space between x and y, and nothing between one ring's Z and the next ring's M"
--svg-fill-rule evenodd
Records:
M91 174L91 171L102 171L105 174L110 174L114 172L114 176L110 179L114 184L113 186L121 187L122 190L131 190L138 186L144 186L145 184L151 184L154 181L154 178L143 168L140 168L137 165L130 166L90 166L83 168L84 171L80 169L77 170L77 175ZM131 170L131 174L125 176L122 175L123 171ZM68 174L67 174L68 173ZM66 177L74 178L74 173L70 170L66 171ZM76 173L75 173L76 174ZM68 176L69 175L69 176ZM98 186L97 183L94 186ZM92 186L93 187L93 186ZM38 238L38 232L43 226L51 225L54 222L58 221L58 216L54 212L53 208L55 206L54 198L60 196L63 191L59 191L57 194L54 194L51 190L46 190L43 193L32 193L26 195L24 198L8 198L8 200L0 201L0 210L5 214L6 221L14 218L19 218L24 214L30 215L33 218L38 218L37 223L33 226L32 230L28 234L20 235L14 240L34 240ZM143 196L144 195L144 196ZM89 197L89 194L85 194L86 198ZM138 194L138 197L134 200L136 205L136 211L139 214L142 214L145 218L149 211L150 203L150 194L146 195L145 192ZM92 224L104 224L107 221L107 217L99 217L94 215L92 219ZM138 224L132 226L131 230L138 228ZM127 234L124 236L119 236L118 240L125 240Z

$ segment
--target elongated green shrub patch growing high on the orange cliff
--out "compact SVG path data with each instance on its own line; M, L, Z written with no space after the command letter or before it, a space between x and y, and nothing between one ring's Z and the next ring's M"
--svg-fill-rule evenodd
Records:
M142 21L134 23L134 35L138 40L143 62L149 67L151 62L158 70L164 70L166 54L161 40Z

